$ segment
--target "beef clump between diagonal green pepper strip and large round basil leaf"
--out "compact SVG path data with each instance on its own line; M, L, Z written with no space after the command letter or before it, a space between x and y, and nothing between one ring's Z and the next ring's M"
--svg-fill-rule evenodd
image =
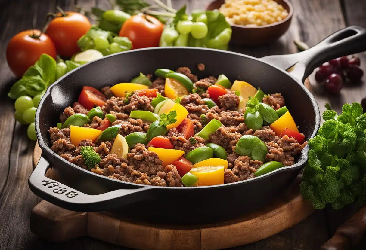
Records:
M227 152L232 152L232 146L236 145L242 135L234 127L221 126L210 135L210 141L223 147Z

